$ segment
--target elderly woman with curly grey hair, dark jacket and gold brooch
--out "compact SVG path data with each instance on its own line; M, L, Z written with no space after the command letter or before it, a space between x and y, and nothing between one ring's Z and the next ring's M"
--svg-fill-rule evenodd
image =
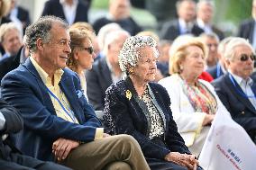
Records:
M178 133L168 93L150 83L157 58L156 41L151 37L136 35L125 40L119 62L126 77L105 93L105 126L111 134L137 139L151 170L201 169Z

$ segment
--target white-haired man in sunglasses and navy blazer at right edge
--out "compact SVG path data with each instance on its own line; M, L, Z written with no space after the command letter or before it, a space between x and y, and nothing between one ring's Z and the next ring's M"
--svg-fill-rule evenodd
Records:
M224 52L228 72L217 78L215 91L234 121L247 131L256 144L256 82L251 79L255 52L242 38L233 38Z

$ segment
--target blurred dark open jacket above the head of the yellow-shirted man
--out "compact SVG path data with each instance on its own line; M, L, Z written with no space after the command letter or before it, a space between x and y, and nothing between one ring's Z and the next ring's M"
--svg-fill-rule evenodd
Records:
M78 0L78 8L74 22L88 22L88 8L89 5L85 1ZM63 7L59 0L49 0L44 4L41 16L54 15L66 20Z

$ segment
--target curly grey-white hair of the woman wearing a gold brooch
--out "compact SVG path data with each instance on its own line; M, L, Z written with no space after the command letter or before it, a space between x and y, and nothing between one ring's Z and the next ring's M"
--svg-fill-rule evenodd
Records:
M137 66L139 58L142 57L139 50L146 46L156 48L157 42L149 36L141 35L130 37L124 41L123 48L118 56L119 65L123 73L127 74L129 67Z

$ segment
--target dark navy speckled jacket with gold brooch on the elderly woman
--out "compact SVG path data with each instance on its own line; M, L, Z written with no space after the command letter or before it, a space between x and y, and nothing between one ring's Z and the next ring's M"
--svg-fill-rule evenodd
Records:
M184 140L178 133L176 122L173 121L169 108L169 94L159 84L150 83L155 95L155 103L164 122L164 137L160 140L149 139L151 121L148 121L147 109L144 109L138 101L138 95L128 78L111 85L105 94L105 128L111 134L128 134L139 142L145 157L163 160L172 152L190 154ZM130 99L126 92L131 92Z

